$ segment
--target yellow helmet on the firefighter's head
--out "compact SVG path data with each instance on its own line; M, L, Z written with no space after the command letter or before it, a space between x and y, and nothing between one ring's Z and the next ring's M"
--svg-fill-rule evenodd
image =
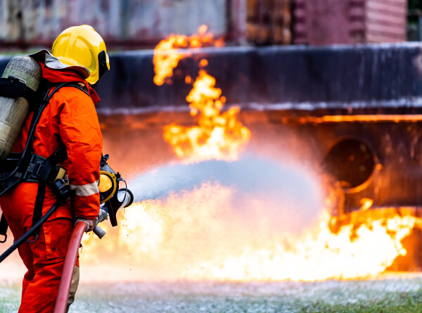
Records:
M100 34L89 25L69 27L58 35L51 54L61 63L83 66L90 72L87 81L95 84L110 69L106 44Z

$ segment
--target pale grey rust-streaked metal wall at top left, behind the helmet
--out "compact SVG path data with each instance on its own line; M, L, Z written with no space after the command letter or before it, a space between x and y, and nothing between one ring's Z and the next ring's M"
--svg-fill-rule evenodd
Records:
M110 46L148 46L170 33L192 34L202 24L218 36L241 36L244 2L0 0L0 45L50 46L66 27L81 24L92 25Z

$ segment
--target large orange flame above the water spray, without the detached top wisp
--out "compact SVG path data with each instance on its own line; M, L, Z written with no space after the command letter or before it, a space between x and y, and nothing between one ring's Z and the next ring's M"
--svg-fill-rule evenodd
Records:
M164 139L184 162L198 160L237 160L238 153L250 138L250 131L236 118L239 108L224 113L225 98L215 88L215 78L200 70L193 89L186 97L191 115L197 115L198 126L167 125Z

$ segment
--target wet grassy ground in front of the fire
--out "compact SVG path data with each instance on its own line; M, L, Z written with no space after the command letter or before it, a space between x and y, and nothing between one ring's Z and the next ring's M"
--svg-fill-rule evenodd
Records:
M0 312L17 312L20 287L0 283ZM422 274L314 283L82 284L70 312L422 312Z

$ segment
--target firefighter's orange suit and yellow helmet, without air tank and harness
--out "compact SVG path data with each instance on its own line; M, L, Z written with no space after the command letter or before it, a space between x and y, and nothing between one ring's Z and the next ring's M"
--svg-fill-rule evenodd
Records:
M64 144L67 159L59 165L67 170L74 196L58 207L36 236L18 248L27 267L19 309L19 312L25 313L53 312L75 219L84 219L86 231L96 226L103 143L94 107L99 98L92 87L110 68L106 45L89 25L64 30L54 41L51 53L39 51L32 58L39 61L44 82L50 86L75 82L79 88L62 87L53 94L34 133L33 153L42 158L48 158ZM31 120L32 113L25 120L13 152L23 152ZM40 193L44 197L40 197ZM37 182L24 181L1 196L0 207L15 239L31 228L34 207L40 198L41 213L44 215L56 201L49 186L39 188ZM78 281L77 261L68 307L73 302Z

